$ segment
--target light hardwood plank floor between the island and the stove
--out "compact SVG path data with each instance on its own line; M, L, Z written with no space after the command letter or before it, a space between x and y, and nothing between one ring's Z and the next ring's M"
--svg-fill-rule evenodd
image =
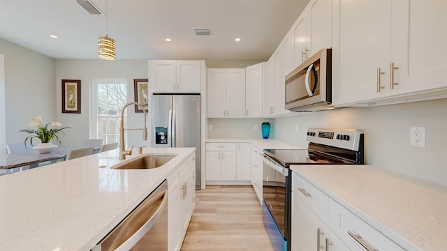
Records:
M253 187L207 185L196 191L196 208L181 250L272 251Z

